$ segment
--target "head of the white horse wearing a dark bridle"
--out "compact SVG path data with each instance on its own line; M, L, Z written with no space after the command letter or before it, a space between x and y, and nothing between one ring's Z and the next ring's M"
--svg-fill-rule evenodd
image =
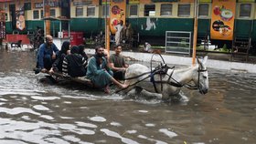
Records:
M197 78L194 79L194 82L196 83L201 94L208 93L208 70L206 67L207 60L208 56L204 57L202 61L197 58Z

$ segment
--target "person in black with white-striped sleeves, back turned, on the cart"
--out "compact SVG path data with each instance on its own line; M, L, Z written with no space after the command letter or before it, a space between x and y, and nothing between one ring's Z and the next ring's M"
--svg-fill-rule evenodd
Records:
M64 76L83 77L86 75L87 60L80 55L80 48L72 46L71 54L64 57L62 73Z

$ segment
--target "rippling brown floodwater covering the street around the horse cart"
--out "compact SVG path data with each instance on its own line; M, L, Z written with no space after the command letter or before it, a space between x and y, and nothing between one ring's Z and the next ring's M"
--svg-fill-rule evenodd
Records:
M256 143L256 74L209 69L187 104L50 85L35 53L0 49L0 143Z

